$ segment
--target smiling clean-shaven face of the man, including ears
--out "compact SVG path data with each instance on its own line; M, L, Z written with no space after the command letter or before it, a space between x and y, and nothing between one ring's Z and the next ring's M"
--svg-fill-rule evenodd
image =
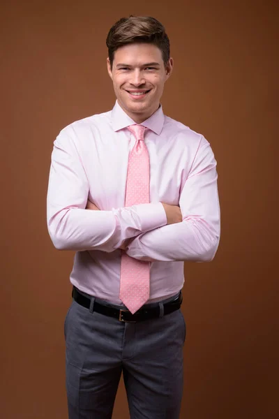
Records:
M151 117L160 105L165 81L172 73L173 60L165 66L162 52L156 45L133 43L114 52L112 68L107 71L121 108L137 124Z

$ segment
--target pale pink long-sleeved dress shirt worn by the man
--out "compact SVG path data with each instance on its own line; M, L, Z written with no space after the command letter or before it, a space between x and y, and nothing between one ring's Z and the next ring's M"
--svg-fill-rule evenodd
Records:
M220 237L216 160L206 139L163 114L142 125L150 159L149 204L124 207L135 124L116 101L110 112L63 128L54 141L47 226L56 249L74 250L70 281L81 291L121 304L123 240L129 256L151 261L150 302L183 287L183 260L212 260ZM85 210L87 199L100 211ZM167 224L161 203L179 205L183 221Z

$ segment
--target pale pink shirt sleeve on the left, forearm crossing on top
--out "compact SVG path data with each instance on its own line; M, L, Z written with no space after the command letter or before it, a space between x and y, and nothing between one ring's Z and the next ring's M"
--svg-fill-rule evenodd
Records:
M124 240L164 226L167 217L161 203L85 210L89 179L76 144L70 136L54 141L47 191L47 228L56 249L112 252Z

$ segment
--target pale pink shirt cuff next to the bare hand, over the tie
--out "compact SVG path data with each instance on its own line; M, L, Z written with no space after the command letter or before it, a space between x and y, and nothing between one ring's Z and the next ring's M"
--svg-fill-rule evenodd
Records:
M154 230L167 224L167 215L162 203L135 205L135 211L140 218L142 232Z

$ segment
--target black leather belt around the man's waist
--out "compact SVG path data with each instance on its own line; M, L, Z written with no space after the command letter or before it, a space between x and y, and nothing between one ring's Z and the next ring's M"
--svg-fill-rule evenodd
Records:
M86 309L89 309L91 299L89 297L86 297L85 295L82 295L75 286L73 287L73 293L72 293L73 299L78 304L82 305L83 307L86 307ZM176 297L174 300L165 302L163 304L164 312L163 315L170 314L175 310L178 310L181 306L182 302L182 294L180 293L178 297ZM132 314L130 311L125 309L118 309L114 307L113 305L105 305L100 304L100 302L95 301L93 311L96 311L96 313L104 314L105 316L110 316L117 318L119 321L123 322L131 322L134 323L136 321L144 321L149 320L150 318L156 318L160 317L160 305L156 305L156 307L142 307L140 310L138 310L135 314Z

